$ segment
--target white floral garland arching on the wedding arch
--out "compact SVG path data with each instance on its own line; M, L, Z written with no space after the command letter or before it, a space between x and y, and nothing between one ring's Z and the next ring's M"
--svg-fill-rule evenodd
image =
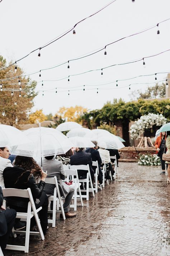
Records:
M162 126L165 125L167 119L162 114L148 113L141 116L140 119L134 122L130 128L130 134L132 139L139 139L145 129L152 128L153 125Z

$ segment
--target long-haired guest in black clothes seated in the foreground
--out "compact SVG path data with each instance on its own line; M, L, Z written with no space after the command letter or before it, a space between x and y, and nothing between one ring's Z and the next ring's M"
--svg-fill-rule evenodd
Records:
M43 172L32 157L16 156L15 166L6 167L3 172L5 188L30 188L36 208L42 206L39 218L44 235L48 229L48 198L43 192L45 186L46 172ZM9 178L10 177L10 178ZM41 179L39 184L36 180ZM9 207L17 212L27 212L28 198L8 197ZM31 219L30 227L34 229L36 224L34 217Z

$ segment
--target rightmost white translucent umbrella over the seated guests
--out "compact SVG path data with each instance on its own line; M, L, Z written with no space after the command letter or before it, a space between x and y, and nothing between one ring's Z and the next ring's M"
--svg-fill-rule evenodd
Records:
M105 142L108 149L120 149L124 148L123 143L112 133L103 129L94 129L91 131L91 140L96 140L98 144Z

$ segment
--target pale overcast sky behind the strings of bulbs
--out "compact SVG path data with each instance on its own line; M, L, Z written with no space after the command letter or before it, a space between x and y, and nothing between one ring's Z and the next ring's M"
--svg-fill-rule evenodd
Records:
M108 3L109 0L3 0L0 3L0 55L3 55L7 62L15 61L67 31L82 18ZM38 51L36 51L18 64L25 74L55 66L168 19L170 18L169 10L169 0L135 0L134 3L132 0L117 0L100 13L77 25L76 35L70 32L42 49L41 57L38 57ZM157 28L153 28L108 46L106 56L103 50L90 57L70 62L70 69L65 64L43 71L41 77L37 73L30 78L38 82L36 89L41 91L42 80L58 80L69 75L136 60L170 49L170 21L161 23L159 30L160 39L157 38ZM145 90L147 87L147 85L132 85L129 90L129 84L155 82L155 76L118 82L118 87L116 83L102 84L139 75L170 72L170 51L148 58L145 63L146 68L143 68L143 61L141 61L104 69L102 78L101 71L94 71L71 77L69 84L67 79L43 82L44 96L40 92L34 99L33 111L43 109L45 114L50 112L55 114L62 106L82 105L88 109L97 109L108 100L112 101L113 98L129 101L133 90ZM157 81L165 78L166 74L157 75ZM83 91L83 85L85 85L85 91ZM81 87L73 88L76 86ZM57 94L55 88L57 88ZM98 88L98 94L96 88ZM70 95L68 95L69 89ZM81 90L71 91L73 89ZM60 91L64 92L60 93Z

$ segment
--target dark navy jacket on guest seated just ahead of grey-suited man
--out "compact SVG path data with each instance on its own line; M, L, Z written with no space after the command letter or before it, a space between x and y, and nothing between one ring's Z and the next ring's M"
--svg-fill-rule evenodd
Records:
M77 153L70 157L70 165L89 165L91 179L93 180L94 171L92 168L92 159L90 153L78 151ZM86 179L87 172L88 171L86 170L77 170L80 179Z

